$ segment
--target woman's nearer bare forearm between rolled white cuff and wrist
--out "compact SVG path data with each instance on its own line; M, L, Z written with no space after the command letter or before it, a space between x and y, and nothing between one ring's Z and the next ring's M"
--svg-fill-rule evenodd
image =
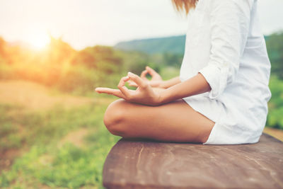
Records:
M202 74L197 74L187 81L179 82L161 91L159 103L168 103L187 96L193 96L210 91L211 88Z

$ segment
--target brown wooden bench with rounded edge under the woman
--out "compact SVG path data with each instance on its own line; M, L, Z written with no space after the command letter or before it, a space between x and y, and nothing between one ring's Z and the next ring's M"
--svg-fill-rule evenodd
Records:
M283 188L283 142L202 145L120 139L103 167L105 188Z

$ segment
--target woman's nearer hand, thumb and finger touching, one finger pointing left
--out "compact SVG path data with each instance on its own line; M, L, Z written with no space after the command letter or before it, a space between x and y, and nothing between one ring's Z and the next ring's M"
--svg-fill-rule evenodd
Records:
M132 80L136 85L136 90L129 90L125 86L125 82ZM141 103L145 105L159 105L159 97L160 95L153 90L153 88L141 77L136 74L128 73L127 76L122 77L118 84L119 89L113 88L96 88L96 92L98 93L108 93L110 95L117 96L119 98L124 98L125 101L133 102L133 103Z

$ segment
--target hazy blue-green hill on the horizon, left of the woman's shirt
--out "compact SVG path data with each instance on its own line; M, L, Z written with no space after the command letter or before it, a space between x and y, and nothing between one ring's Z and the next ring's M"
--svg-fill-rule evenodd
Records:
M114 47L119 50L135 50L151 55L165 52L183 55L185 50L185 35L118 42Z

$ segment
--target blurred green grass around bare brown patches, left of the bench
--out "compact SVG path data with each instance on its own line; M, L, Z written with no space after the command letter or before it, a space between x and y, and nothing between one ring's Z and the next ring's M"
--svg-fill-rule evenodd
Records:
M105 108L91 104L24 113L20 107L0 105L0 150L26 149L8 171L2 171L0 188L103 188L103 163L120 138L105 129ZM80 128L89 131L83 147L71 143L58 147L62 137Z

